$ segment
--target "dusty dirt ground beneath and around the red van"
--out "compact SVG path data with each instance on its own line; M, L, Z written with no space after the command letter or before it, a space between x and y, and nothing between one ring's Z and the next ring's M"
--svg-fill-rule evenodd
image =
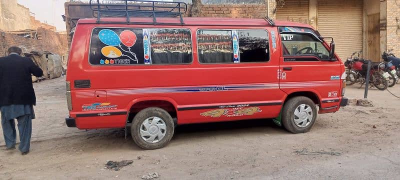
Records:
M345 96L361 98L358 86ZM66 127L63 78L34 87L31 151L3 151L1 135L0 179L400 179L400 99L387 91L369 90L373 107L318 114L303 134L270 119L192 124L178 126L166 147L142 150L120 129ZM400 84L389 89L400 95ZM108 160L133 163L115 171Z

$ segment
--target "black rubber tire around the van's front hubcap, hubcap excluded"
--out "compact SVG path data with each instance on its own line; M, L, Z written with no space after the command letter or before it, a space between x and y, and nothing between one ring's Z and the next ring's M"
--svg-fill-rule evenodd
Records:
M308 125L304 127L299 127L294 122L294 111L297 109L297 106L300 104L308 105L312 110L312 118ZM312 125L316 119L316 106L315 103L308 97L305 96L296 96L288 99L286 103L283 105L282 109L282 124L283 127L292 132L292 133L304 133L311 129Z

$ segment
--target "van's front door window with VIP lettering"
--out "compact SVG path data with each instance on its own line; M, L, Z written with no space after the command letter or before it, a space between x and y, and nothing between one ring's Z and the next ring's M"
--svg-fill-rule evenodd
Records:
M317 56L321 60L329 60L329 51L322 42L310 34L280 34L284 56Z

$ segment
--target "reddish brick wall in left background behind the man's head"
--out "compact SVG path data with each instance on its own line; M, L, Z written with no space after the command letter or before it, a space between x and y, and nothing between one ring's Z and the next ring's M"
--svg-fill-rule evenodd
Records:
M0 56L6 55L8 47L13 45L26 48L27 52L41 50L60 55L68 53L66 34L59 34L42 27L37 28L37 32L41 34L41 39L0 32Z

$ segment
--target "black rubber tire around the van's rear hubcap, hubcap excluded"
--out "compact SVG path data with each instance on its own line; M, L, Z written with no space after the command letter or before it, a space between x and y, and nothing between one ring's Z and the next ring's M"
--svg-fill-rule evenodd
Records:
M147 142L140 135L140 127L144 120L151 117L161 118L166 125L165 135L158 142ZM132 126L130 127L130 134L132 135L133 141L137 146L150 150L164 147L171 140L174 132L174 123L171 115L167 111L158 107L147 107L140 110L132 120Z

